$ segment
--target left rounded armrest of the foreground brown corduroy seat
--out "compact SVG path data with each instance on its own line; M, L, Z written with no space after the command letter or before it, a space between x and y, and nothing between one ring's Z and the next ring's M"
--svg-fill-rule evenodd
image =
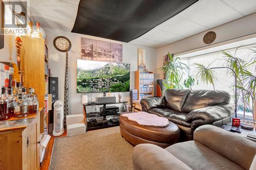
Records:
M135 170L191 170L181 160L154 144L138 144L132 157Z

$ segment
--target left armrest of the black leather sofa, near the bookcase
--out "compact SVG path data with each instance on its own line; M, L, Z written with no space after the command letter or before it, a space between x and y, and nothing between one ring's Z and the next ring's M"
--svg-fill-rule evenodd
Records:
M142 107L142 111L147 111L150 110L151 108L164 108L164 100L163 98L158 98L158 97L154 97L154 98L146 98L146 99L142 99L140 101L141 107Z

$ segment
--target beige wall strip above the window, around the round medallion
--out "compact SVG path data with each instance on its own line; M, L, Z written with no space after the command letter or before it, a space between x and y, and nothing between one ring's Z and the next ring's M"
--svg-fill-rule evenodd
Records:
M206 51L209 49L212 49L210 52L218 51L221 50L221 46L237 41L241 41L240 45L242 45L244 44L243 40L256 37L255 20L256 13L225 23L224 25L184 38L174 43L162 46L157 49L158 67L161 67L163 65L162 56L167 54L168 51L174 54L182 55L194 52L196 53L198 51L203 52L203 50ZM212 42L210 45L204 44L203 42L203 36L208 31L214 31L217 34L215 41ZM239 46L238 44L236 45ZM157 78L162 78L159 71Z

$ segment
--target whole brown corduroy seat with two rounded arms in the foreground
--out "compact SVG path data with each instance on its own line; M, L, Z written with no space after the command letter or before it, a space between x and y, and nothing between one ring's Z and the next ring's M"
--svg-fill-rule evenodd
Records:
M224 129L204 125L194 132L194 140L162 149L139 144L133 151L135 170L216 170L256 169L256 143Z

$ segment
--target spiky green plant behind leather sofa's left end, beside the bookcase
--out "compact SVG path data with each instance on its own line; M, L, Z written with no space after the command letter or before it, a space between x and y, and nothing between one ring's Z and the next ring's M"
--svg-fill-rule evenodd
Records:
M187 71L189 67L180 62L179 57L173 57L172 54L168 52L169 61L164 63L164 65L159 68L165 74L165 83L163 82L166 89L169 88L182 88L182 76L184 71Z

